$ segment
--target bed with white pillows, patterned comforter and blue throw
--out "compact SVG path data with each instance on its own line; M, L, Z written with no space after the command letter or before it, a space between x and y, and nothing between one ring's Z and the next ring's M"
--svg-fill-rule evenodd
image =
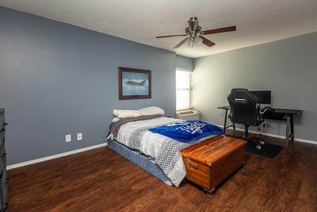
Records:
M147 107L137 111L114 110L113 114L116 117L110 124L109 134L106 138L108 147L167 185L175 187L179 187L186 176L185 165L179 151L224 133L221 128L208 124L211 125L211 132L203 134L206 130L202 129L207 129L205 126L207 123L167 117L159 107ZM161 133L165 127L188 126L184 123L194 126L190 134L196 134L198 137L183 141L185 137L187 140L187 134L181 138L174 138L175 135L178 135L174 131L168 137ZM202 125L204 128L197 127ZM185 131L189 131L189 129Z

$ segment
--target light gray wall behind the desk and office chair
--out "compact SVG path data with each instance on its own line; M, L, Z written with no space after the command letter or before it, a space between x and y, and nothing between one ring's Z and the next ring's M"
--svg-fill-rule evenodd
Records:
M228 105L232 88L271 90L271 107L304 111L294 116L295 140L317 141L317 32L197 58L194 64L193 106L203 121L223 125L224 110L217 107ZM285 136L285 126L264 132Z

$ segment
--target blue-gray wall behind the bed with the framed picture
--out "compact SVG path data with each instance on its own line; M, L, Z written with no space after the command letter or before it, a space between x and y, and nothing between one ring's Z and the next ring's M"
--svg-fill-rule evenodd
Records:
M118 100L118 67L151 70L152 99ZM113 109L175 116L175 67L173 52L0 7L7 164L104 143Z

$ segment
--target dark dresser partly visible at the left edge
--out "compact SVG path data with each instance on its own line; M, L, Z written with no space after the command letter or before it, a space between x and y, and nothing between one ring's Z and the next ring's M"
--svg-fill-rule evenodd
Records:
M4 147L4 134L6 125L7 124L4 122L4 108L0 108L0 212L5 212L8 208L6 194L8 190L9 179L6 177L6 153Z

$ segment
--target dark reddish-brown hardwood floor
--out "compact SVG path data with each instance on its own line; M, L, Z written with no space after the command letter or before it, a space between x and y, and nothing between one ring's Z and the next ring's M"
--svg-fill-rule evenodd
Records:
M285 145L283 139L261 138ZM247 166L222 182L209 199L193 183L167 186L100 147L8 170L8 211L317 211L317 145L290 141L274 159L246 155Z

